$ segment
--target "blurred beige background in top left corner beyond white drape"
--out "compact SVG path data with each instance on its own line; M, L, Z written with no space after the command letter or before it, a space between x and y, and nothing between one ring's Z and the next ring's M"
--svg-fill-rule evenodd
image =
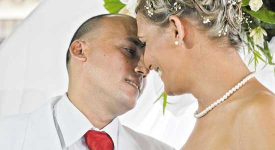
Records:
M0 43L40 0L0 0Z

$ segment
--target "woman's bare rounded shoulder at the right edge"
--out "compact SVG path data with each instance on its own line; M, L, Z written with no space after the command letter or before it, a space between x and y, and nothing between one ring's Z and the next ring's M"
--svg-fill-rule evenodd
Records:
M275 95L259 91L243 100L234 122L242 147L275 149ZM263 147L262 147L263 146Z

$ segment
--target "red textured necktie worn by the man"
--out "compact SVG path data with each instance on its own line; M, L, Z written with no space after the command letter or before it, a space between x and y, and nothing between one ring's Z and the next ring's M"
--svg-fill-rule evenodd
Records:
M113 150L112 139L105 132L88 130L84 137L86 144L91 150Z

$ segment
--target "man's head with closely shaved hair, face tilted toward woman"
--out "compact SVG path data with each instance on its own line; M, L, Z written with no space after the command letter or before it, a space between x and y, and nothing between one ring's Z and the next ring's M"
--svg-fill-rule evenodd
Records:
M123 14L90 18L70 43L68 96L83 97L82 106L93 107L86 110L105 109L112 114L110 119L125 113L135 106L146 83L149 70L143 54L135 18Z

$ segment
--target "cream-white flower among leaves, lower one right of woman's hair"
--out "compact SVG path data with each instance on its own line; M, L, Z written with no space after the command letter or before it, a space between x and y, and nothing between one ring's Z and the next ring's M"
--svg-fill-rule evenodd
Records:
M266 31L260 26L253 29L250 28L249 32L250 32L249 36L253 38L254 43L257 45L264 41L263 35L267 36Z

